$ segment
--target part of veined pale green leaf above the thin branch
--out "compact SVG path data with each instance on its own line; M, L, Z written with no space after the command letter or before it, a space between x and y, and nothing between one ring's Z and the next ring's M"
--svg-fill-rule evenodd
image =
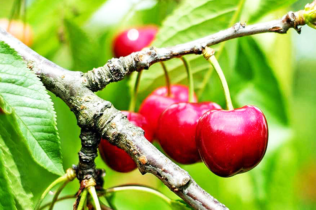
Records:
M162 24L156 47L167 47L202 38L225 29L240 0L185 0Z

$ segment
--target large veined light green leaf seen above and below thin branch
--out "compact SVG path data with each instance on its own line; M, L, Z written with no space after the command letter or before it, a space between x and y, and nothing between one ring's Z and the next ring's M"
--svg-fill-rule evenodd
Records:
M185 0L163 22L153 45L156 47L173 46L226 29L231 23L238 20L243 3L243 0ZM228 43L234 43L234 40ZM218 49L217 46L214 46L214 48ZM234 54L236 48L226 48L225 50L231 52L230 54ZM228 56L221 57L225 58L222 63L231 65L231 67L234 66L234 60L231 60ZM201 88L201 82L206 71L210 68L210 64L205 61L203 56L188 55L186 58L190 61L195 89L198 90ZM179 59L167 61L166 66L173 83L187 84L185 69ZM133 79L129 84L130 87L133 87L135 77L135 74L133 74ZM142 100L153 89L163 85L165 85L165 80L161 65L155 64L150 67L149 71L142 74L139 99Z

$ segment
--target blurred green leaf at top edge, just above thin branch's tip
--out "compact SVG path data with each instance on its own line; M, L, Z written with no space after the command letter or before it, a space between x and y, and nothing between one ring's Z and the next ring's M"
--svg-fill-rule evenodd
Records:
M261 0L257 9L252 10L248 22L252 23L263 17L265 14L280 9L282 7L288 7L295 3L297 0Z

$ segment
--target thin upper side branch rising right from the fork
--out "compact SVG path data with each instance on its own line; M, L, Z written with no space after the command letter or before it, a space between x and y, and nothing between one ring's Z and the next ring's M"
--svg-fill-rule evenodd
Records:
M85 86L95 92L105 88L111 82L124 79L128 73L148 69L149 66L160 61L170 60L186 54L202 54L206 46L253 34L266 32L284 34L290 28L294 28L298 33L301 33L301 28L298 28L299 25L305 25L305 22L300 22L294 12L289 12L280 20L272 20L250 26L236 23L226 30L173 47L145 48L142 51L120 57L119 59L112 58L104 66L88 71L83 76Z

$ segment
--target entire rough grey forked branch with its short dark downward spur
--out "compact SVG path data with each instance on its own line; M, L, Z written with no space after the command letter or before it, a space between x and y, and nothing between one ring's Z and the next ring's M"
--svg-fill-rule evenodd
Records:
M214 35L168 48L147 48L126 57L109 60L106 65L85 74L68 71L40 56L32 49L0 28L0 40L14 48L28 67L40 77L45 87L64 100L77 118L82 129L82 150L79 153L77 178L98 179L100 170L94 169L94 158L100 136L124 149L137 163L139 171L153 173L170 190L195 209L227 209L204 191L190 175L164 156L144 137L144 131L127 120L119 110L92 91L104 88L110 82L122 80L132 71L148 69L150 65L180 57L185 54L201 54L206 46L246 35L277 32L286 33L289 28L300 32L295 13L289 12L280 20L245 26L237 23L233 27Z

